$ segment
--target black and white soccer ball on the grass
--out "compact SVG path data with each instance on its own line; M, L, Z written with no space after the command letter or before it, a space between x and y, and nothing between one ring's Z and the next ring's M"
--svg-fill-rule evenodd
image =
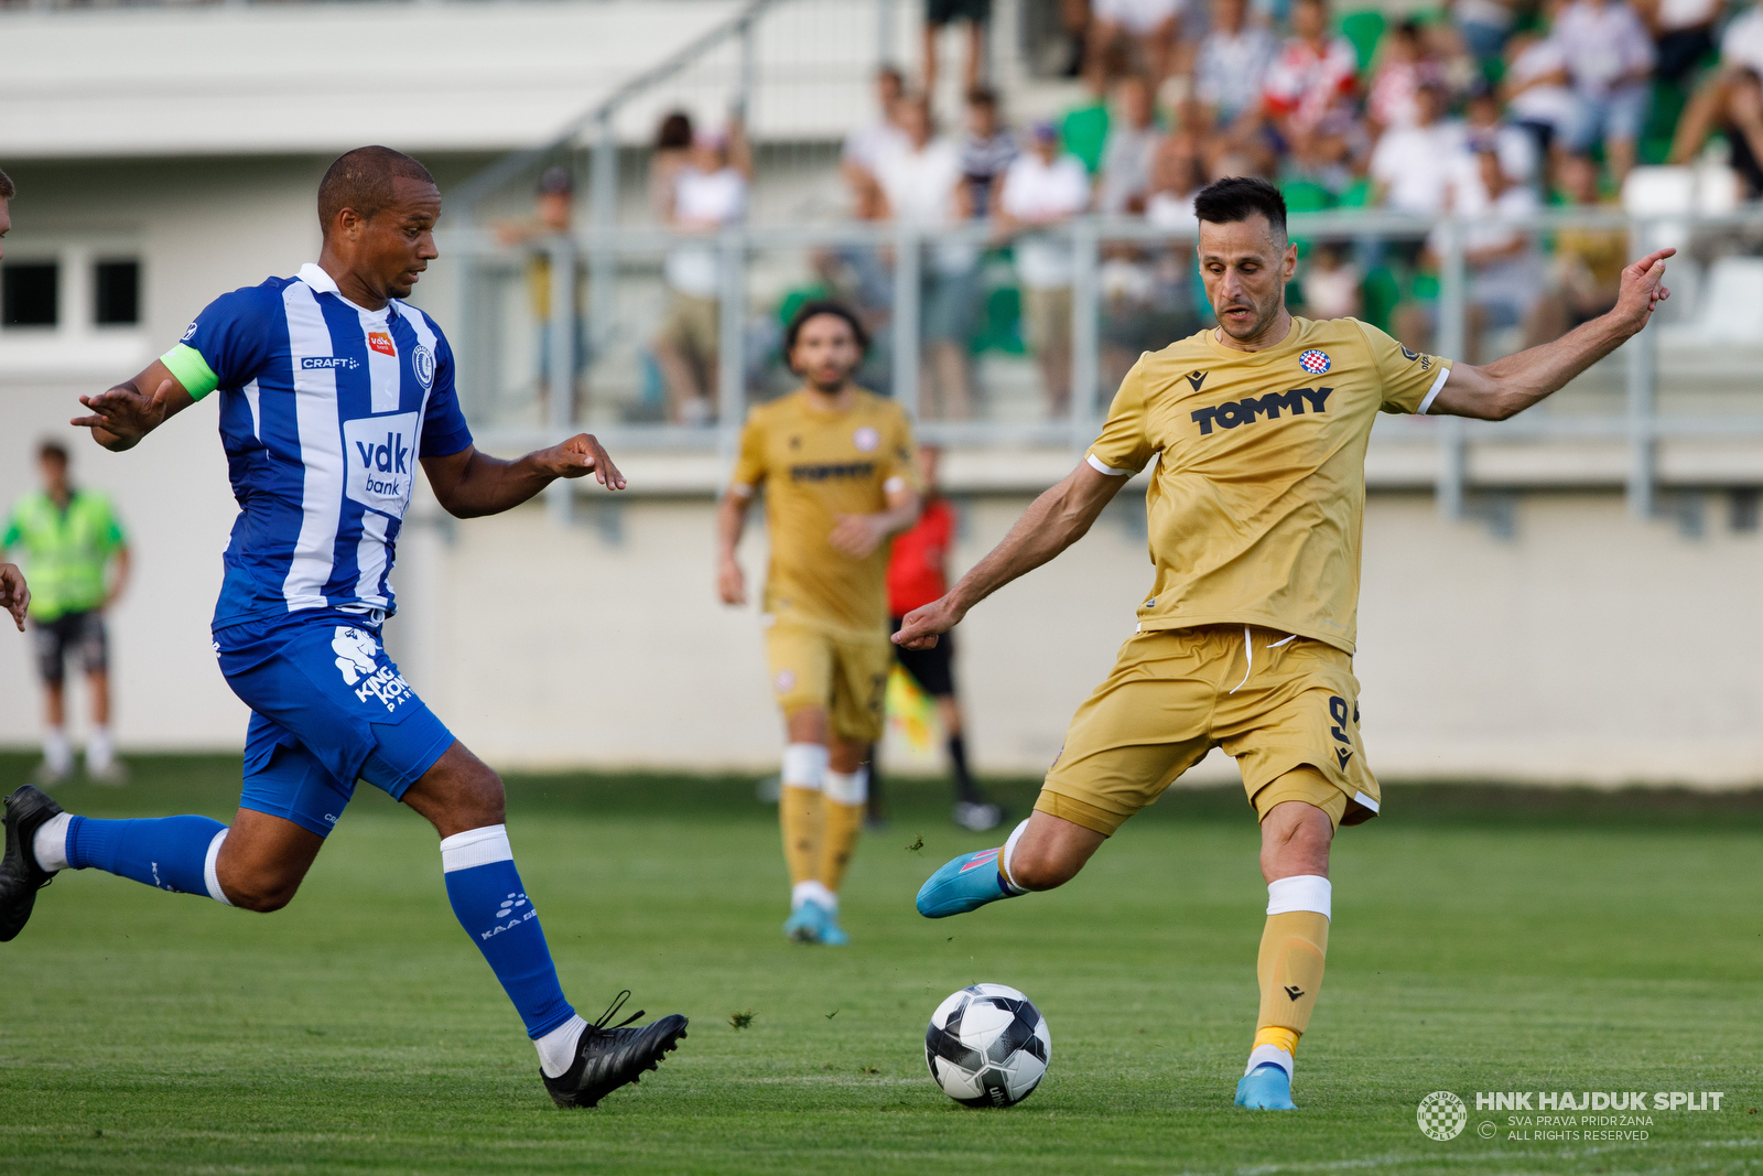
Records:
M1008 1107L1047 1074L1053 1035L1033 1001L1003 984L964 987L931 1014L924 1060L943 1093L970 1107Z

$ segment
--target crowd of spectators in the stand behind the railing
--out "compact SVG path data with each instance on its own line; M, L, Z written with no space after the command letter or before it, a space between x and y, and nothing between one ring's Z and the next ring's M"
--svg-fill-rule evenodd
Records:
M1329 0L1060 0L1081 97L1054 118L1012 125L984 83L989 7L927 0L919 85L880 71L876 115L846 139L841 173L857 219L986 222L922 257L920 388L933 418L977 409L971 361L996 312L1000 263L1012 266L1015 330L1040 368L1045 409L1065 413L1074 257L1058 226L1104 213L1179 236L1194 226L1194 192L1225 175L1275 180L1294 212L1474 217L1463 242L1467 346L1502 328L1537 340L1606 305L1613 238L1537 240L1509 222L1544 205L1603 205L1643 159L1692 160L1715 136L1745 196L1763 194L1763 7L1731 12L1726 2L1446 0L1386 19L1331 12ZM938 90L924 83L934 83L940 33L957 23L968 26L968 88L959 109L938 111ZM677 153L658 167L668 220L700 229L739 217L749 155L677 132L677 143L663 134L658 153ZM1141 349L1204 321L1183 249L1104 240L1105 386ZM1301 249L1301 309L1366 314L1410 346L1433 342L1437 233ZM836 268L843 293L885 314L892 259L873 254L832 257L823 272ZM698 254L670 259L665 367L670 386L684 388L673 397L682 420L707 404L712 279Z

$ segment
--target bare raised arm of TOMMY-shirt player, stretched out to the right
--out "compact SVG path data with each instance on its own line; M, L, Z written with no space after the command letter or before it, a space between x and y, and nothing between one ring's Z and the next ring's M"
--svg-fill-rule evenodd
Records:
M1664 261L1675 249L1648 254L1622 272L1622 287L1610 314L1578 326L1555 342L1504 360L1472 367L1456 363L1430 413L1504 421L1558 391L1569 379L1620 347L1652 319L1654 307L1671 296L1661 286Z

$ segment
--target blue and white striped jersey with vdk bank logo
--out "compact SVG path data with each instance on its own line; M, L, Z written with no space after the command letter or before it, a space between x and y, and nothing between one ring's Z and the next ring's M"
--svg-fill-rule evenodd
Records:
M434 319L397 300L363 310L307 264L215 298L164 363L196 398L220 390L240 515L215 628L307 608L391 615L416 460L471 444Z

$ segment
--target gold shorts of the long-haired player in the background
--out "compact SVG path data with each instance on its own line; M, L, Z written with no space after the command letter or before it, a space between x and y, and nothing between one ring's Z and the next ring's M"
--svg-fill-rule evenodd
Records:
M832 733L859 742L882 739L887 672L894 645L887 629L846 629L797 614L767 617L765 661L785 718L825 707Z

